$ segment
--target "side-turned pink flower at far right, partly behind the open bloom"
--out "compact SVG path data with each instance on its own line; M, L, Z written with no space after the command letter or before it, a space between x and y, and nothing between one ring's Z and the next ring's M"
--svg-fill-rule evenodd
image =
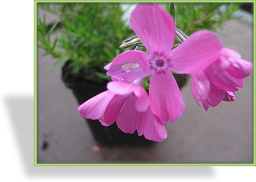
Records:
M220 57L206 69L195 73L191 82L191 91L200 106L202 101L205 111L216 107L222 100L234 101L234 92L243 88L243 78L252 71L252 63L241 59L234 50L222 48Z

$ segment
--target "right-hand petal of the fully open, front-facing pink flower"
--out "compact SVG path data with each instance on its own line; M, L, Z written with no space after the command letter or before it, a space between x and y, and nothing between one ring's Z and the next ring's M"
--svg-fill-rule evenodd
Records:
M220 57L221 48L215 33L198 31L171 51L171 70L183 74L201 71Z

